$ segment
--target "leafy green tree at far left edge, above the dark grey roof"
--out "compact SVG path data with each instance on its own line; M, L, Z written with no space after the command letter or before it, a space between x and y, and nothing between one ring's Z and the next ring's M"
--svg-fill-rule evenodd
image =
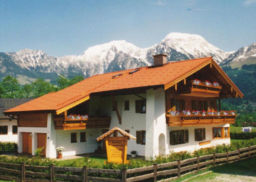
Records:
M6 76L1 83L4 98L18 97L20 86L18 80L12 76Z

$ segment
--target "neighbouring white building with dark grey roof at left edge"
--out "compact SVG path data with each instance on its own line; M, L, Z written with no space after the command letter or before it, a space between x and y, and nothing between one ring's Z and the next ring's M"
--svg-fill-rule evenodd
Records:
M0 99L0 141L18 141L17 118L4 115L4 111L32 99Z

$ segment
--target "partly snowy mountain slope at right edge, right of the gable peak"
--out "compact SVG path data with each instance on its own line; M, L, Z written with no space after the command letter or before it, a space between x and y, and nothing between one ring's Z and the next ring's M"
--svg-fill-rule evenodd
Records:
M256 42L233 52L224 60L224 63L221 65L240 67L244 64L256 64Z

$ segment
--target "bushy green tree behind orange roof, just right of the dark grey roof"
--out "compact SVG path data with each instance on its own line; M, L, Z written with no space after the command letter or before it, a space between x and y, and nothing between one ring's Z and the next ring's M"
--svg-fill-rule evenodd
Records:
M42 78L38 78L36 79L36 81L32 82L32 87L33 87L33 98L38 98L49 92L57 91L57 88L53 84L45 81Z

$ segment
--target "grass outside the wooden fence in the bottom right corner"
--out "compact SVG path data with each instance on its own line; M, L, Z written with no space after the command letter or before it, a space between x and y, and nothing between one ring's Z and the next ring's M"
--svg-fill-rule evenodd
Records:
M216 181L217 178L221 177L223 177L221 181L256 181L256 156L250 159L212 167L200 173L209 170L211 170L212 173L198 176L189 181ZM174 181L182 181L197 174L187 175Z

